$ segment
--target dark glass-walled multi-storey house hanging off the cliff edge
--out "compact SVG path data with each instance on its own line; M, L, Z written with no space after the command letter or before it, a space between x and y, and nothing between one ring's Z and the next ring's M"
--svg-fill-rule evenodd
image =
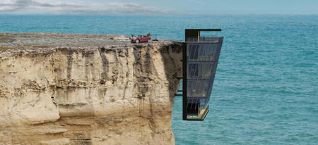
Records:
M183 51L182 108L183 120L204 120L208 113L213 81L223 37L202 37L201 31L220 29L186 29Z

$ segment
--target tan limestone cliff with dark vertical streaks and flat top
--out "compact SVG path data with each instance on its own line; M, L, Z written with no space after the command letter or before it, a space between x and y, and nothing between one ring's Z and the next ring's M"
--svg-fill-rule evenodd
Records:
M175 144L182 46L0 34L0 144Z

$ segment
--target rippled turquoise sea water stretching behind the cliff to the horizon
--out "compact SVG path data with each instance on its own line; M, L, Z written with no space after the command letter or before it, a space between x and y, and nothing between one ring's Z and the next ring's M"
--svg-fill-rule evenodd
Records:
M318 144L318 15L0 15L0 32L147 34L184 40L185 28L222 28L223 48L203 122L182 120L176 144Z

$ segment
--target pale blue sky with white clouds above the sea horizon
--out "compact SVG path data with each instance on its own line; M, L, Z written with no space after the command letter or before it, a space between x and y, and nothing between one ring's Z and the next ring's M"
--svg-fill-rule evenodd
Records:
M318 0L0 0L0 14L318 15Z

